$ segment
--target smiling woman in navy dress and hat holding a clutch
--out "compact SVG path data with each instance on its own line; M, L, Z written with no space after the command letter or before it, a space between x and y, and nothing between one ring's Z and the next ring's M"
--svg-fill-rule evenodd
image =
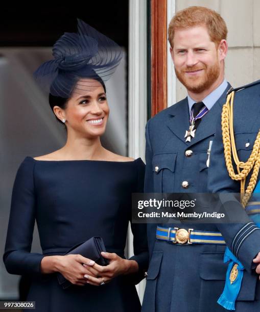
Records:
M109 107L104 81L122 58L110 39L78 20L79 33L65 33L54 60L37 80L50 91L56 118L65 124L65 146L27 157L17 172L4 262L11 274L30 275L28 301L37 311L138 311L134 283L148 266L146 227L131 224L134 253L125 259L131 193L143 190L144 163L105 149ZM35 220L42 254L31 253ZM103 238L109 265L64 255L93 236ZM72 283L63 289L56 273Z

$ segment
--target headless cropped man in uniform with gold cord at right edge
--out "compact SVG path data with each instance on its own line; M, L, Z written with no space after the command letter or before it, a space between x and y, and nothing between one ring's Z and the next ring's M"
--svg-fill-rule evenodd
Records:
M230 93L231 91L233 94ZM237 312L259 311L260 81L230 90L229 93L221 116L222 127L219 120L214 146L212 146L208 189L214 193L231 193L228 194L229 196L223 197L222 204L226 204L227 209L230 209L232 205L233 210L237 210L240 214L244 213L243 219L247 218L248 220L243 224L218 224L218 229L230 252L237 258L235 262L231 262L231 267L239 262L244 267L240 287L237 290L226 289L223 292L222 303L233 301ZM230 120L233 121L232 128ZM240 162L247 163L247 166L243 166L243 163ZM237 165L240 165L240 174ZM245 194L242 196L243 207L232 199L232 193L240 192ZM235 268L233 271L236 271ZM239 276L238 272L236 274ZM228 274L226 284L230 285ZM238 297L231 298L232 292Z

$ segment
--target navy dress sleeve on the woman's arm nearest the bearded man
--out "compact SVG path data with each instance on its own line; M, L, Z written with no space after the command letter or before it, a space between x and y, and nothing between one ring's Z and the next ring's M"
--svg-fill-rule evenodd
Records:
M145 164L140 159L136 161L137 165L137 184L136 193L144 192ZM138 272L132 274L135 284L145 277L148 269L149 253L147 245L147 226L145 223L132 223L134 255L129 260L135 260L138 263Z

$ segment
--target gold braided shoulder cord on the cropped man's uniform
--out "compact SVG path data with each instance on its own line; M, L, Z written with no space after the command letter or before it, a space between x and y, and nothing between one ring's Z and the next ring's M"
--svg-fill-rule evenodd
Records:
M243 207L245 207L255 188L260 167L260 131L258 132L257 137L255 139L253 150L250 154L250 157L246 162L241 162L238 158L237 148L235 147L234 128L233 128L233 101L234 101L234 91L227 96L227 101L223 106L221 115L224 156L228 174L231 177L231 179L241 181L241 203ZM231 152L234 163L237 165L238 173L235 173L234 171ZM247 189L245 191L246 177L248 176L248 174L252 169L253 172L249 184L247 186Z

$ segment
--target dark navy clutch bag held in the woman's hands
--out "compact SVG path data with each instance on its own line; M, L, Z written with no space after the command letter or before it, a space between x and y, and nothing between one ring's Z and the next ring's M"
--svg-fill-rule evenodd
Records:
M106 252L106 248L103 239L99 236L91 237L84 243L80 243L70 248L65 254L81 254L83 257L89 258L96 262L100 266L107 266L109 264L108 259L103 258L101 252ZM57 274L59 284L63 289L66 289L71 283L61 274Z

